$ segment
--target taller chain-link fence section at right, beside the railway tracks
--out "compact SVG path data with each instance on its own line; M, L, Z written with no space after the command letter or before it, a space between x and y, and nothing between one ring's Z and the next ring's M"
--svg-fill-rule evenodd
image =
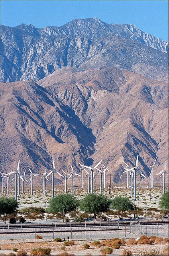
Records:
M159 236L159 225L140 224L140 222L130 222L130 234Z

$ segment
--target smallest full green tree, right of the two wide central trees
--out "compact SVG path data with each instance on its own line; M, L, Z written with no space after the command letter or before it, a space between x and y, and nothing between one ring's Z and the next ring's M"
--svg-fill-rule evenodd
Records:
M112 200L111 208L117 210L118 216L121 219L124 211L133 210L133 203L126 196L117 196Z

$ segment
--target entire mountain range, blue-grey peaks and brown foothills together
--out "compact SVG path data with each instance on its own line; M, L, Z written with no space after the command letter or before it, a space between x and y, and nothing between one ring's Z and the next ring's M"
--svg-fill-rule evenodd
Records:
M2 171L18 159L35 172L51 156L60 172L102 160L119 182L137 154L146 176L156 156L155 173L168 166L167 42L90 18L2 25L1 46Z

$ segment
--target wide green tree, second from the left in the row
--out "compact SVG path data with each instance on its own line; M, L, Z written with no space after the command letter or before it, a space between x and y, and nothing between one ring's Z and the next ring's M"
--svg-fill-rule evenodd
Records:
M78 200L73 198L71 194L59 194L54 196L49 201L49 207L47 208L47 212L55 213L61 212L63 214L63 221L65 215L71 210L77 209Z

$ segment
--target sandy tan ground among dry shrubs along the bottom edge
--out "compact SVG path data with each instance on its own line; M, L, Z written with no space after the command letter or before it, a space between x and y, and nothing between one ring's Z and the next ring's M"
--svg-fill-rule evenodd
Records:
M90 248L88 250L85 250L83 248L83 244L89 244ZM96 246L91 246L91 241L75 241L74 245L66 246L65 251L61 250L61 247L63 246L63 242L34 242L29 240L29 242L25 242L24 240L20 241L3 241L1 243L1 254L5 253L8 254L12 251L12 248L18 248L18 250L25 250L28 255L30 254L30 251L32 248L50 248L51 249L51 255L57 255L61 252L68 252L69 254L74 255L101 255L100 250L102 248L105 248L106 246L101 246L101 248L97 248ZM151 250L157 250L157 251L163 251L164 248L166 248L167 244L153 244L153 245L124 245L120 246L119 249L113 250L113 253L111 255L121 255L122 250L131 250L133 255L143 255L144 251L151 251Z

